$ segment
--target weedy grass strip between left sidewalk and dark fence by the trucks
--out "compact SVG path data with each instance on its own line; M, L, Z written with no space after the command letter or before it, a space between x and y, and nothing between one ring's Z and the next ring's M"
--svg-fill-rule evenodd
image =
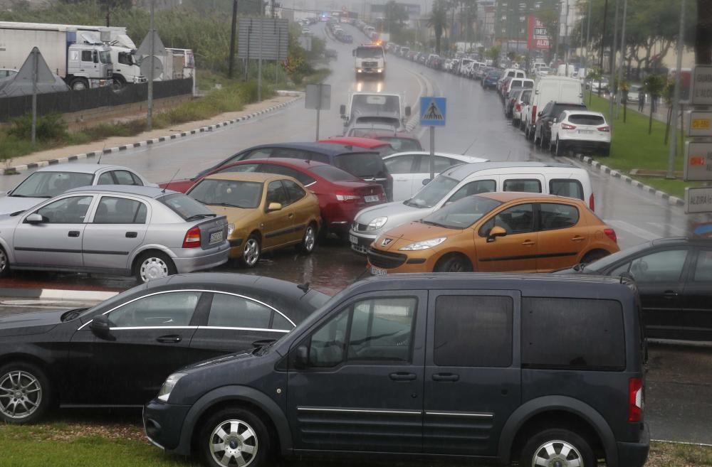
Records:
M263 83L263 99L273 95L272 87ZM256 82L228 82L221 89L212 90L204 97L155 114L153 128L168 128L176 124L209 119L224 112L236 112L252 102L257 102ZM59 122L56 115L43 116L38 119L38 142L33 146L29 137L29 118L28 115L19 117L10 127L0 129L0 160L6 161L6 165L9 165L8 161L11 159L36 151L102 141L111 136L135 136L146 128L146 120L137 119L116 124L100 124L80 131L67 131L66 124ZM43 138L39 132L44 121L49 121L53 127L52 131L48 131L46 138Z

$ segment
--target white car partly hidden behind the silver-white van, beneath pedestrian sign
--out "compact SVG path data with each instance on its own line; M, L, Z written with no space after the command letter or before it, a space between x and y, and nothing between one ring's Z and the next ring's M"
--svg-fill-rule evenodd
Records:
M425 151L407 151L391 154L383 158L388 173L393 176L393 200L408 200L423 185L430 181L430 153ZM436 152L434 161L435 176L451 166L460 163L488 162L489 159Z

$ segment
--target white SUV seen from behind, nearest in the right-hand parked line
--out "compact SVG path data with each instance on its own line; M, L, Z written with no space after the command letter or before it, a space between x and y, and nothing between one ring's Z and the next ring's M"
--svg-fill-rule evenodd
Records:
M549 149L563 156L571 149L609 156L611 127L601 112L565 110L553 120Z

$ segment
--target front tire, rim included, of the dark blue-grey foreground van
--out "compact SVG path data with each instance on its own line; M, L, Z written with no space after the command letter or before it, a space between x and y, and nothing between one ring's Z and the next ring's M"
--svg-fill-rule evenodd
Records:
M216 412L199 432L199 449L211 467L264 467L271 457L270 445L261 417L239 407Z

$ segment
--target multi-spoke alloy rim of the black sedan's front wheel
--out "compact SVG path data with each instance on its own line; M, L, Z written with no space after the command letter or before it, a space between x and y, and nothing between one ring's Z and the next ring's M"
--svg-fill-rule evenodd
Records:
M0 379L0 412L9 419L30 417L42 403L42 385L23 370L12 370Z

